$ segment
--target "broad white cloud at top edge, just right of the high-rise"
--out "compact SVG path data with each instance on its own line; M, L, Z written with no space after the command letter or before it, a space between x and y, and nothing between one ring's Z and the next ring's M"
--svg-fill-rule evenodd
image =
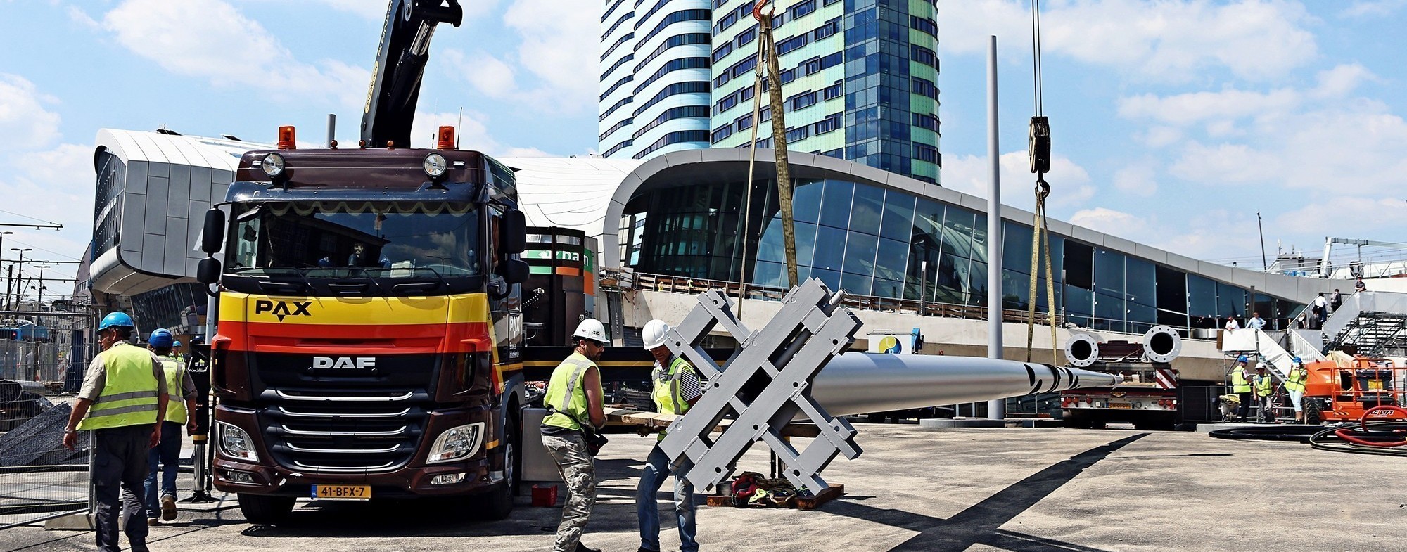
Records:
M1003 55L1027 56L1029 8L1023 0L944 3L940 54L983 54L995 34ZM1061 1L1041 11L1041 48L1159 82L1186 82L1209 66L1263 79L1314 58L1314 35L1303 28L1309 21L1304 7L1289 1Z

